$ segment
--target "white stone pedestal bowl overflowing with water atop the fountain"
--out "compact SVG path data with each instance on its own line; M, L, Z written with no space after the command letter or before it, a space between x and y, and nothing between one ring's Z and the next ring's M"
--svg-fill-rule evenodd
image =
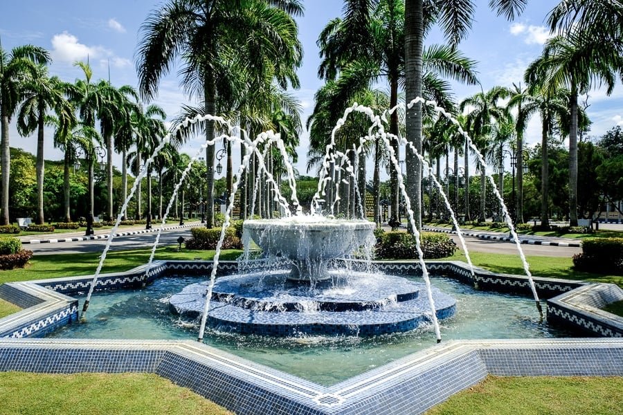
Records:
M374 223L290 216L244 221L243 229L264 255L291 261L290 279L320 281L329 278L327 261L374 245Z

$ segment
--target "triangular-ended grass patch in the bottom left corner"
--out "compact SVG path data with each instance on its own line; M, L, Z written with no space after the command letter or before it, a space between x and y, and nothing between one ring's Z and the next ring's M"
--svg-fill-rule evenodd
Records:
M231 414L155 374L0 373L2 414Z

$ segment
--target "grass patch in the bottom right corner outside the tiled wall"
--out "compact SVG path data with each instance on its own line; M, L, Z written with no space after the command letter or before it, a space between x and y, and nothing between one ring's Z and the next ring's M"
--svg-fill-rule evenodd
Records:
M623 407L623 378L488 376L426 415L608 415Z

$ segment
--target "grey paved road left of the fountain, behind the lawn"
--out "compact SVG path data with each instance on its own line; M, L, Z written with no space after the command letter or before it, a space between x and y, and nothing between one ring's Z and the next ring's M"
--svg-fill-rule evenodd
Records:
M147 234L127 235L116 237L111 245L111 250L129 250L134 248L150 248L156 241L157 232ZM190 229L165 230L160 236L159 246L177 243L179 236L190 238ZM78 254L82 252L102 252L108 242L107 239L95 241L78 241L62 243L33 243L24 245L24 248L32 250L35 255L51 254Z

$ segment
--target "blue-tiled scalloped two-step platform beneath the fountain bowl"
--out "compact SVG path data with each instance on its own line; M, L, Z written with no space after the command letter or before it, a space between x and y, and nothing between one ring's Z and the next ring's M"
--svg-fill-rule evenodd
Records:
M220 277L208 324L228 333L258 335L378 335L413 330L431 320L422 283L382 274L331 274L314 290L309 283L290 281L287 270L264 277ZM207 286L208 282L186 286L170 298L170 307L197 317L205 306ZM437 318L455 313L456 302L449 295L433 288L433 299Z

